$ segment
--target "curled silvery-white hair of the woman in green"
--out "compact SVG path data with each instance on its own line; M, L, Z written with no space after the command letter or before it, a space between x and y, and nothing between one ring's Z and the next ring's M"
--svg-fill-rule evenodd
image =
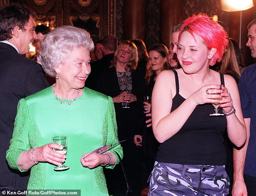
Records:
M57 27L46 34L41 44L40 60L44 71L52 77L56 76L55 67L64 63L66 57L75 47L94 49L90 34L78 27Z

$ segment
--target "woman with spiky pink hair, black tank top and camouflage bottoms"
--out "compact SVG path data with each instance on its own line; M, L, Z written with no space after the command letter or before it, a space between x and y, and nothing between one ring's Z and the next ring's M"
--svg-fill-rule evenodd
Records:
M235 80L209 68L227 44L227 32L205 14L184 22L177 52L182 68L160 72L153 89L152 127L161 144L148 195L229 193L223 133L227 128L240 147L246 128ZM212 103L220 104L221 116L210 116Z

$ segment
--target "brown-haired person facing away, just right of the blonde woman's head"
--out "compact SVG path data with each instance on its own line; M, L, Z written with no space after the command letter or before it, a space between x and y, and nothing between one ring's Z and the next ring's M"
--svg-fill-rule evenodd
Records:
M147 61L149 60L149 54L147 53L147 48L142 39L132 39L138 50L138 67L146 69Z

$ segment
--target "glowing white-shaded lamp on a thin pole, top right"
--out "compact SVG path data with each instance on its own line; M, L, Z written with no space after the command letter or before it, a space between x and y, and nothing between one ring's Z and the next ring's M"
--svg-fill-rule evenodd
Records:
M241 49L242 11L253 7L252 0L221 0L221 9L226 12L240 11L239 48Z

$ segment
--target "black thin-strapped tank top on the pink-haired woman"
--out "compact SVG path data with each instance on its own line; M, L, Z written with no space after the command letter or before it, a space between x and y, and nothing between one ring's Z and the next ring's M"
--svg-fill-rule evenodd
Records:
M175 70L173 72L176 95L172 99L171 112L185 101L179 94L178 74ZM220 80L225 85L223 74L220 74ZM219 112L222 113L221 108ZM185 165L225 165L223 133L227 128L227 119L226 116L209 116L210 113L214 113L212 104L197 105L183 127L160 144L156 161Z

